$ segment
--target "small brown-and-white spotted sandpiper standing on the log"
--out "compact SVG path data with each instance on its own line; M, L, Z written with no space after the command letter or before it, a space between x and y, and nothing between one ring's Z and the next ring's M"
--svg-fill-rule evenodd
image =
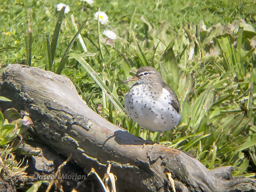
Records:
M180 104L175 92L164 83L153 67L141 67L136 76L123 81L137 81L125 95L124 107L133 121L149 130L158 131L157 143L163 131L171 130L180 121ZM152 141L151 141L152 142Z

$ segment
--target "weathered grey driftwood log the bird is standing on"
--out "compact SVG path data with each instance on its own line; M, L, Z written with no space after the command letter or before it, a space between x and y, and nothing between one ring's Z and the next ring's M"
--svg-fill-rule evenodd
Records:
M0 77L0 95L26 110L38 138L55 153L101 175L111 162L117 191L256 191L256 180L233 178L231 166L208 170L196 158L161 145L146 145L90 109L66 77L24 65L8 65Z

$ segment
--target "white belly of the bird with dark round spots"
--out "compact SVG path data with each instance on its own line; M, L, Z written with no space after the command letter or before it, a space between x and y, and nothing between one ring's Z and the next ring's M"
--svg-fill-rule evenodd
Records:
M170 130L180 121L180 114L172 107L171 95L164 88L157 100L152 98L150 92L147 95L139 89L133 94L128 92L124 107L132 120L150 131Z

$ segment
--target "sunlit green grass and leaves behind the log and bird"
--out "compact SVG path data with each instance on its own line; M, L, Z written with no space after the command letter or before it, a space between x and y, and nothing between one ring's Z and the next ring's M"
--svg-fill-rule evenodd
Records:
M182 114L161 143L193 153L209 169L233 165L235 176L254 175L254 1L95 1L92 7L68 1L71 11L62 18L58 38L52 35L57 34L59 2L0 3L2 66L29 64L31 58L31 66L57 69L73 81L89 107L142 138L146 130L122 107L132 84L120 83L141 66L153 66L177 93ZM99 8L107 13L108 24L94 20ZM80 39L72 41L79 28ZM107 39L105 29L118 38ZM156 138L152 133L151 139Z

